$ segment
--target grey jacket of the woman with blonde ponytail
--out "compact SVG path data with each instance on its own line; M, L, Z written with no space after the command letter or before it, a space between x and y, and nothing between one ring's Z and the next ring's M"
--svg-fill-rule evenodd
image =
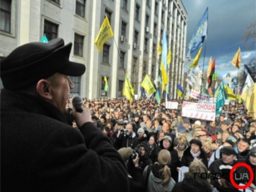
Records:
M171 178L168 184L162 185L161 183L163 181L163 176L159 171L161 168L163 167L158 164L154 164L151 166L151 171L148 176L147 192L156 192L156 191L171 192L172 191L175 185L175 181L173 180L173 178ZM144 180L146 180L146 177L147 177L147 170L148 170L148 166L143 171Z

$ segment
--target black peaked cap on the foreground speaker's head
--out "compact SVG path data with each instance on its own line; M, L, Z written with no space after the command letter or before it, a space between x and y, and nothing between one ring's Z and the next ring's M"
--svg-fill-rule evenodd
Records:
M71 47L72 43L64 45L61 38L48 43L32 42L17 47L1 59L3 86L10 90L20 90L55 73L81 76L85 72L85 65L69 61Z

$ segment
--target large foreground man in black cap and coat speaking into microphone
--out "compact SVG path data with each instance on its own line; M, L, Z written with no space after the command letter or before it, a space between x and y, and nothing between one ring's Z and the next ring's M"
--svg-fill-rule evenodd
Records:
M85 72L71 47L33 42L1 60L1 191L128 191L124 161L90 111L71 111L79 130L67 122L69 76Z

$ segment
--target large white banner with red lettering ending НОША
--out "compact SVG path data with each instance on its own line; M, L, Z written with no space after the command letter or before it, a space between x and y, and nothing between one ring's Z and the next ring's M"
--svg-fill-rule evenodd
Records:
M215 104L183 101L182 117L215 121Z

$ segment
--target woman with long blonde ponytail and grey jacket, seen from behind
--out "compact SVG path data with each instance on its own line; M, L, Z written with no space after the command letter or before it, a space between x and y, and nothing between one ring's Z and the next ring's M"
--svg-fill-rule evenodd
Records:
M154 165L148 165L143 171L145 188L147 192L170 192L175 185L171 178L169 164L171 163L171 154L168 150L162 149L158 154L158 162Z

